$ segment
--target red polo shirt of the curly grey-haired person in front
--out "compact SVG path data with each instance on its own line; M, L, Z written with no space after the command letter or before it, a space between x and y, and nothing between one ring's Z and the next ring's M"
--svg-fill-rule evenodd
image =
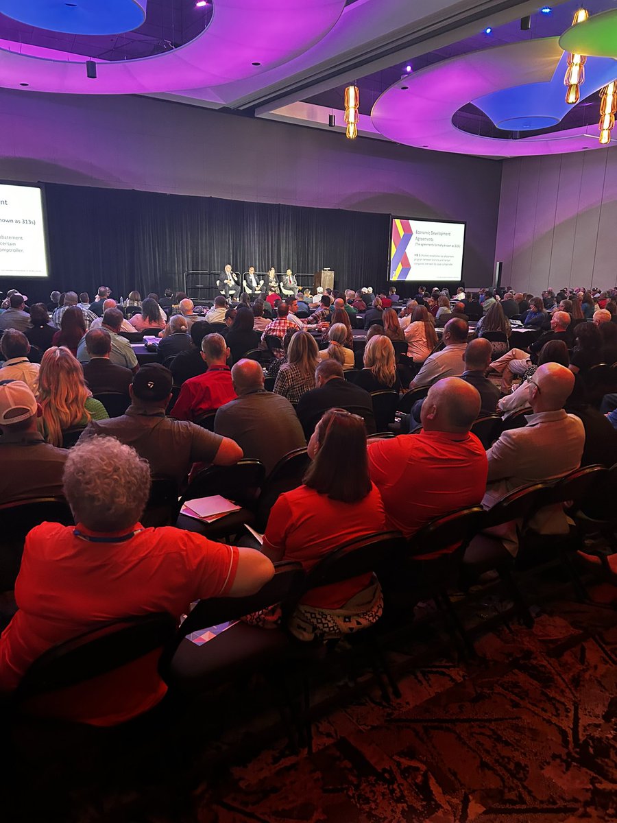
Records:
M89 542L82 535L108 537ZM142 528L124 542L41 523L26 537L15 597L19 611L0 637L0 691L15 689L30 663L97 624L127 616L168 612L179 618L193 600L229 592L238 549L179 528ZM122 723L151 709L167 687L156 671L160 653L114 672L36 699L41 714L96 726Z

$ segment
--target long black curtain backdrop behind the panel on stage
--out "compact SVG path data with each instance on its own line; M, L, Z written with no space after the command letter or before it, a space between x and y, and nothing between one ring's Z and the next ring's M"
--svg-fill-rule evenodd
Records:
M51 277L4 287L162 294L184 271L330 267L336 288L387 285L389 218L338 209L46 184Z

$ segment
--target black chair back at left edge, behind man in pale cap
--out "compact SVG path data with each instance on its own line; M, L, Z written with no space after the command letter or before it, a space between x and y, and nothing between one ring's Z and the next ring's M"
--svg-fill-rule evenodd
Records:
M73 524L72 511L62 496L32 497L0 504L0 592L14 588L26 535L45 521L64 526Z

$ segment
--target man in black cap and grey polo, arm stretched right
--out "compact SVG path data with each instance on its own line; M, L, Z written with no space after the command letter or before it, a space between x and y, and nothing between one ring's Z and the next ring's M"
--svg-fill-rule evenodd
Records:
M173 477L182 485L193 463L232 466L242 458L233 440L214 435L190 421L165 416L172 378L160 363L147 363L134 375L129 388L131 405L121 417L93 421L82 440L96 435L115 437L136 450L157 477Z

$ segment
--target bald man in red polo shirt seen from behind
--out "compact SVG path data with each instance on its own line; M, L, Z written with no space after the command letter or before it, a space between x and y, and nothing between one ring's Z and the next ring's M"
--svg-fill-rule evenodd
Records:
M434 518L480 503L486 452L471 425L480 412L477 389L457 377L439 380L422 404L423 431L369 445L371 480L392 528L411 537Z

